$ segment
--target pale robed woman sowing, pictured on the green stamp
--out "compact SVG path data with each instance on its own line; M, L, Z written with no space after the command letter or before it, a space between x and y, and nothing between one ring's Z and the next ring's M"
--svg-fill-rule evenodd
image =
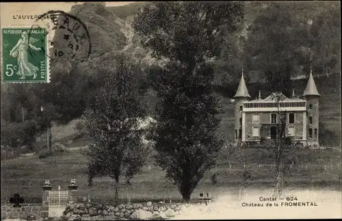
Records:
M12 57L17 57L18 60L18 72L16 75L21 75L20 79L25 79L26 76L34 75L34 79L37 77L38 67L29 63L27 58L27 50L29 47L34 49L35 51L41 51L41 49L34 47L32 45L34 42L37 42L36 38L29 38L26 31L21 34L21 39L18 40L16 46L10 51L10 55Z

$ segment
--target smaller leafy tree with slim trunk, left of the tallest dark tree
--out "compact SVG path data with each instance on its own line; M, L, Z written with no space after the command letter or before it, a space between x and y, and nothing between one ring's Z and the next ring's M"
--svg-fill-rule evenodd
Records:
M83 124L93 140L86 151L89 185L96 176L115 180L118 203L120 177L131 179L146 161L148 147L142 144L146 100L137 88L133 69L120 57L116 77L105 75L107 82L94 96L83 114Z

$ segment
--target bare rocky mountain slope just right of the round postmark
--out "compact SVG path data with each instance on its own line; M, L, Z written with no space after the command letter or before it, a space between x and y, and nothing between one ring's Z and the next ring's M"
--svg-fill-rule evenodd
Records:
M142 5L137 4L137 5ZM120 8L120 7L118 7ZM74 5L68 14L76 16L86 25L91 43L90 57L81 62L77 59L70 60L66 57L58 57L51 62L51 70L54 72L70 71L71 68L79 68L82 73L93 73L95 67L114 66L115 57L119 53L124 53L131 57L132 61L141 62L142 65L148 66L155 64L157 61L150 57L150 52L142 48L139 37L134 34L131 23L137 8L125 11L125 15L121 14L121 18L116 16L113 8L106 8L101 3L83 3ZM128 13L128 14L127 14ZM133 14L131 14L133 13ZM62 16L60 16L62 19ZM59 21L62 23L62 21ZM56 29L53 38L55 48L68 51L67 43L64 40L64 30ZM69 50L70 51L70 50Z

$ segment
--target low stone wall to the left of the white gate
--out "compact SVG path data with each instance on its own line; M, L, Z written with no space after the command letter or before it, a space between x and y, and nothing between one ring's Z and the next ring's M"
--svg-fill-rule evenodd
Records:
M13 205L1 206L1 220L22 219L37 220L42 217L42 205L23 205L22 207L13 207Z

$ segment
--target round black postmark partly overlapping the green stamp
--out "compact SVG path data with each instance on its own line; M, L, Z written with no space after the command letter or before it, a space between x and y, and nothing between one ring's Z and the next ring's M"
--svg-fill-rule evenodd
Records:
M38 16L36 24L31 27L32 30L42 28L46 29L49 49L45 53L50 60L83 62L90 56L90 34L77 16L61 10L51 10Z

